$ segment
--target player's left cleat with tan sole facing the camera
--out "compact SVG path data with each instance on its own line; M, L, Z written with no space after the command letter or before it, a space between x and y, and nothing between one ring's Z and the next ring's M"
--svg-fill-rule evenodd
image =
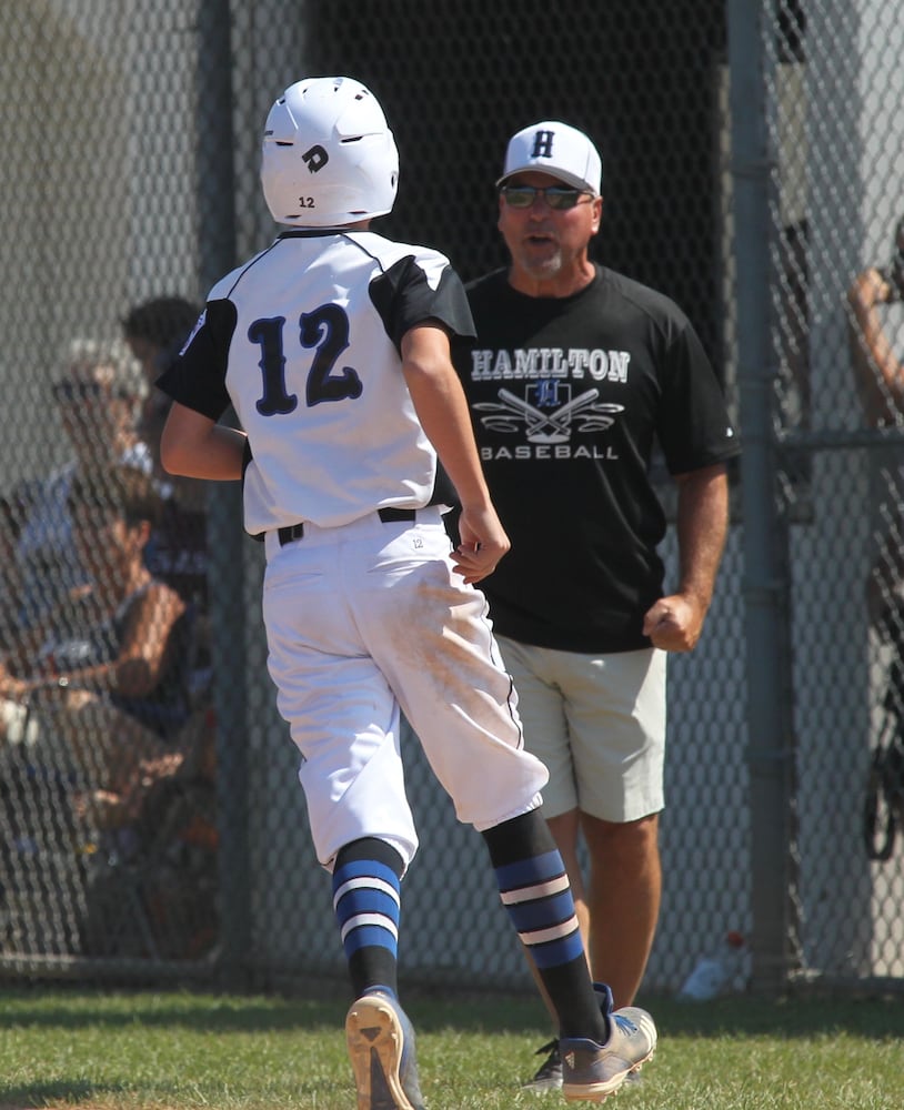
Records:
M358 1088L358 1110L424 1110L414 1054L414 1030L388 993L352 1002L345 1042Z

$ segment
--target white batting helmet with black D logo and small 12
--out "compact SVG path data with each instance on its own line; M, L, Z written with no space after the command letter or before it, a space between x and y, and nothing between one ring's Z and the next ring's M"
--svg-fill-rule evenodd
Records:
M391 212L399 151L373 93L348 77L290 85L267 117L261 184L277 223L333 228Z

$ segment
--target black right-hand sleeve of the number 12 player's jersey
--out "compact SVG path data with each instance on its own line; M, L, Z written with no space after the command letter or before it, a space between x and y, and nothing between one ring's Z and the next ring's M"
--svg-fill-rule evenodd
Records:
M405 332L428 321L442 324L453 337L475 334L464 285L449 265L434 289L418 259L406 255L374 279L370 296L396 351Z

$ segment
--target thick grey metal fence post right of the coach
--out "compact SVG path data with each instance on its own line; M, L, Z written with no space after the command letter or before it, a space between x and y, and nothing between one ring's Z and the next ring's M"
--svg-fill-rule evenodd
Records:
M754 989L781 988L789 970L794 887L794 739L791 713L787 527L776 483L770 335L770 51L772 4L729 0L747 637Z

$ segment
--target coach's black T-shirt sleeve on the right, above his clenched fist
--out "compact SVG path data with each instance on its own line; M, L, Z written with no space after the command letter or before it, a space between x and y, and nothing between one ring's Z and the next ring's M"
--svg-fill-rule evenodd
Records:
M670 335L661 387L656 432L671 474L713 466L739 453L722 387L687 320Z

